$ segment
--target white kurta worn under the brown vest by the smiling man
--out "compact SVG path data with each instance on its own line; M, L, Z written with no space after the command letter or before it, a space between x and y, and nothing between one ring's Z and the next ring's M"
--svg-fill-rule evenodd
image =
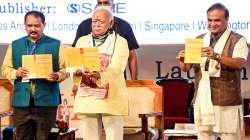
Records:
M230 34L230 30L227 29L220 40L216 43L216 46L214 48L216 53L221 54L222 50L227 41L227 37L224 37L225 34ZM206 38L207 36L207 38ZM210 34L206 35L204 37L205 42L210 41ZM209 45L207 45L209 46ZM246 39L242 37L236 44L233 50L233 58L239 57L247 60L248 56L248 47L246 43ZM204 62L205 63L205 62ZM211 65L211 64L210 64ZM212 69L209 66L209 69ZM204 102L201 102L203 104L203 110L204 112L208 111L207 104L204 104ZM239 127L242 127L242 106L212 106L213 111L213 117L214 117L214 124L204 125L199 121L199 112L197 112L198 109L195 109L195 115L196 115L196 125L198 130L200 131L213 131L217 133L236 133ZM201 115L200 115L201 116Z

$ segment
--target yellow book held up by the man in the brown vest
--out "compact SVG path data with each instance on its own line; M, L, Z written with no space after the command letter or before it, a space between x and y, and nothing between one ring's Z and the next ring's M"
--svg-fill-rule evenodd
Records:
M201 63L202 47L203 47L203 39L186 39L184 63L190 63L190 64Z

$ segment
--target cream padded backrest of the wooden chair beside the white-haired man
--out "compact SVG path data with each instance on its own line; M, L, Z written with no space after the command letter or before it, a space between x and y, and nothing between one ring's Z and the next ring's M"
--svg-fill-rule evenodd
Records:
M129 97L129 116L124 116L125 127L141 127L138 114L162 112L162 87L153 80L127 80ZM149 126L155 127L154 117L149 119Z

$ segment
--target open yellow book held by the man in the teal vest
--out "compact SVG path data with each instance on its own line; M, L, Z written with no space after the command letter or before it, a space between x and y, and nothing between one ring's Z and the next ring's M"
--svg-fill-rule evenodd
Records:
M34 54L22 56L22 67L29 71L25 79L47 78L52 70L51 54Z

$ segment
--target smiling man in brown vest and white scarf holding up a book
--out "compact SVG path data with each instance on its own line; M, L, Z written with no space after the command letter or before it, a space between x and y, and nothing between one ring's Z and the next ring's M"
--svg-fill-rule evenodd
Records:
M182 70L195 70L195 124L199 140L240 140L242 99L240 72L246 63L246 39L228 28L229 11L216 3L207 10L209 31L203 38L200 64L183 62L184 51L178 58Z

